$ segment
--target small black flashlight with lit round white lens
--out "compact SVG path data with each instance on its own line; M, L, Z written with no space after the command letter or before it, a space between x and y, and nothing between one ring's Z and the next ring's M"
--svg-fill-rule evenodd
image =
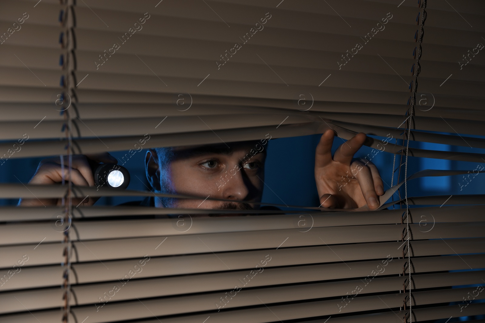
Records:
M113 163L98 164L91 163L93 170L94 183L97 187L114 187L118 189L125 189L129 185L129 172L123 166Z

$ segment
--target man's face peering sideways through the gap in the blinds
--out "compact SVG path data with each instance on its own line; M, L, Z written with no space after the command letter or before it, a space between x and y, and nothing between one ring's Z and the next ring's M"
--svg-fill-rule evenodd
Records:
M168 165L154 165L148 162L147 168L157 168L158 181L164 178L165 182L163 185L161 181L161 187L165 186L178 194L203 197L201 200L178 199L173 207L257 209L259 205L251 202L261 201L265 147L257 141L229 145L230 148L226 144L176 147ZM149 154L154 154L154 151L150 151ZM153 161L158 160L153 158ZM204 200L207 197L241 200L246 203ZM162 200L155 199L155 206L163 207Z

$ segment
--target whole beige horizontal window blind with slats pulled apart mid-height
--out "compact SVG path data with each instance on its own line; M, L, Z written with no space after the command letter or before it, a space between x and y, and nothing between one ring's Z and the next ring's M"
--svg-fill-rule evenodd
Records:
M396 178L407 156L482 165L484 4L397 2L1 0L0 163L330 128L392 135ZM483 321L483 195L199 217L0 185L32 194L66 206L1 207L1 322Z

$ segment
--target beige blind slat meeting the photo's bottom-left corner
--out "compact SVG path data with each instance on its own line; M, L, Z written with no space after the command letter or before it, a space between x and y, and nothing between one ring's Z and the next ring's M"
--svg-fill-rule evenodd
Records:
M468 289L450 289L450 290L439 290L439 291L426 291L426 292L415 292L413 294L413 302L415 305L428 305L433 303L444 303L459 301L463 294L473 291L474 288ZM336 300L324 300L315 302L306 302L298 304L286 304L286 305L275 305L267 307L265 306L266 298L257 299L253 295L251 300L248 300L249 304L259 305L258 308L250 309L235 309L232 311L220 311L211 312L213 322L274 322L275 316L279 317L280 320L291 320L298 318L308 318L316 316L324 316L338 313L336 307ZM196 297L196 296L195 296ZM483 296L482 296L483 297ZM242 298L242 297L241 297ZM256 300L254 300L256 299ZM379 301L380 300L380 301ZM256 303L258 302L258 303ZM337 302L338 303L338 302ZM194 304L194 305L192 305ZM230 304L230 303L229 303ZM350 305L352 304L352 307ZM182 307L184 311L193 311L201 307L200 302L189 303L189 307L184 307L183 304L177 304ZM197 306L198 305L198 306ZM355 313L362 310L368 309L388 309L396 308L403 305L403 294L387 294L381 296L361 296L356 297L352 300L352 303L348 304L348 307L342 309L342 313ZM146 311L146 308L151 308L151 310ZM268 308L271 310L268 311ZM144 300L144 302L128 302L124 306L116 306L112 304L111 307L105 308L103 311L93 312L96 308L94 307L84 307L84 308L71 308L75 317L85 317L91 314L93 316L94 323L112 322L112 320L120 319L139 319L139 318L150 318L152 316L161 316L168 311L175 312L173 305L172 308L165 308L165 303L160 300ZM458 313L458 308L456 308L456 313ZM154 312L154 313L153 313ZM60 313L59 310L52 311L36 311L41 320L52 320L57 317ZM166 322L187 322L187 319L194 320L195 317L201 317L201 314L191 315L186 318L175 318L168 319ZM32 314L14 314L5 315L2 317L4 322L18 322L19 318L23 318L24 322L34 322L31 319ZM206 316L207 317L207 316ZM35 318L33 318L35 319ZM195 321L193 321L195 322Z

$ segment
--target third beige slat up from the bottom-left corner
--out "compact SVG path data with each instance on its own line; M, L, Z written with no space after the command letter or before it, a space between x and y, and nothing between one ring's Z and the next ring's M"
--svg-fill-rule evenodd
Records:
M454 246L454 245L452 245ZM454 246L456 247L456 246ZM274 254L274 253L272 253ZM258 263L266 257L267 254L262 252L258 253L239 253L236 255L237 259L232 264L232 270L241 270L248 268L252 269L255 263ZM278 255L281 255L279 253ZM380 257L382 255L375 255L374 257ZM387 256L387 255L386 255ZM392 256L395 256L393 254ZM402 257L401 255L397 255ZM139 260L144 257L140 256ZM262 257L262 258L261 258ZM279 261L274 261L278 260ZM60 262L61 260L59 260ZM222 268L219 264L214 261L214 257L210 259L205 256L193 255L193 256L182 256L182 257L172 257L168 258L151 258L149 261L150 266L144 267L143 271L139 275L135 275L133 279L139 278L150 278L150 277L166 277L174 275L185 275L180 277L187 277L186 275L198 275L203 273L208 273L207 275L230 275L226 271L226 267ZM273 261L273 262L271 262ZM309 281L318 280L320 276L318 273L322 273L325 279L345 279L345 278L356 278L369 275L377 265L382 264L381 261L355 261L352 262L353 269L349 269L347 264L343 262L337 263L326 263L326 264L307 264L305 261L293 261L289 263L288 261L283 262L281 258L272 258L272 260L267 263L264 270L266 272L270 271L275 273L274 275L287 276L287 270L291 270L295 273L300 273L302 277L308 277ZM194 263L197 265L194 266ZM309 261L312 263L312 261ZM403 273L403 266L405 260L394 259L389 262L386 269L388 275L398 275ZM14 276L8 280L2 286L4 291L14 291L29 288L42 288L59 286L62 279L62 267L57 265L48 265L42 267L28 267L29 262L25 263L22 267L22 279L17 279ZM129 270L134 266L133 260L116 260L116 261L104 261L92 262L92 263L73 263L73 273L71 283L76 284L86 284L86 283L102 283L106 281L117 281L122 279L127 275ZM281 265L299 265L298 267L287 267L284 268L274 268ZM438 257L418 257L413 258L413 266L411 267L412 273L429 273L434 271L443 270L462 270L469 269L469 266L473 268L484 268L485 257L483 255L463 255L463 256L438 256ZM109 270L106 269L109 266ZM217 274L210 274L211 272L217 272ZM317 275L317 276L315 276ZM3 274L2 274L3 276ZM14 279L15 277L15 279ZM38 277L43 277L41 280ZM197 276L198 277L198 276ZM168 279L168 278L167 278ZM171 278L170 278L171 279ZM177 279L177 278L174 278ZM305 279L303 280L305 281Z

